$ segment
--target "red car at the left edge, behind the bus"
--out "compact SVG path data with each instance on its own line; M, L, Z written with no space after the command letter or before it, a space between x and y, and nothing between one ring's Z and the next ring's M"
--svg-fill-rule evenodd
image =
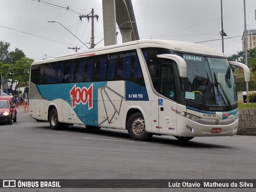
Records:
M15 105L10 100L0 100L0 122L8 122L12 124L17 121L17 111Z

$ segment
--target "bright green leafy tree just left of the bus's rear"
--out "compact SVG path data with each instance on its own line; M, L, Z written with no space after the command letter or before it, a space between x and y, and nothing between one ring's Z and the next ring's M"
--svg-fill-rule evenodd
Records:
M20 85L28 81L32 62L34 62L33 59L22 58L17 60L15 64L0 64L0 72L4 74L4 79L10 81L10 87L16 82L14 91L16 91Z

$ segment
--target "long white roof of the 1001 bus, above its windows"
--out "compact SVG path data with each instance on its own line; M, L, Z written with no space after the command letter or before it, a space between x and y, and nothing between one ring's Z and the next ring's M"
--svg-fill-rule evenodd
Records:
M168 48L171 50L177 50L177 51L182 51L182 52L187 52L187 53L226 57L224 55L224 53L220 52L219 50L216 50L211 47L203 46L200 44L195 44L195 43L191 43L191 42L183 42L183 41L173 41L173 40L148 39L148 40L136 40L136 41L126 42L126 43L121 43L121 44L93 48L93 49L88 49L85 51L56 56L54 58L38 60L38 61L33 62L32 65L51 62L51 61L53 62L53 61L57 61L57 60L73 59L73 58L77 58L78 56L93 56L93 55L97 55L97 52L100 52L100 51L104 51L106 53L115 52L116 50L114 50L114 49L124 48L126 46L131 46L132 48L144 48L144 47ZM111 50L113 50L113 51L111 51ZM122 49L122 50L124 50L124 49ZM102 52L100 54L102 54Z

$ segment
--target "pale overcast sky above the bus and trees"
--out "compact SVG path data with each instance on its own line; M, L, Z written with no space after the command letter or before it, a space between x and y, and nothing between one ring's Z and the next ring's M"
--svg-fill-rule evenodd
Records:
M95 22L95 44L103 38L102 0L44 0L58 6L69 6L81 14L99 16ZM117 0L116 0L117 1ZM222 51L220 0L132 0L140 39L167 39L202 42ZM242 50L244 31L244 0L222 0L224 53L227 56ZM247 30L256 29L256 0L246 0ZM79 14L46 6L38 0L0 0L0 40L23 50L28 58L40 60L74 52L68 47L86 47L57 21L80 38L89 42L91 20L79 20ZM96 20L95 20L96 21ZM14 30L11 30L11 29ZM18 32L18 31L20 32ZM25 33L22 33L25 32ZM84 35L83 35L84 34ZM238 36L236 38L232 38ZM226 38L226 37L225 37ZM209 41L215 40L215 41ZM118 34L121 42L121 34ZM87 44L90 47L90 44ZM104 46L104 41L98 45Z

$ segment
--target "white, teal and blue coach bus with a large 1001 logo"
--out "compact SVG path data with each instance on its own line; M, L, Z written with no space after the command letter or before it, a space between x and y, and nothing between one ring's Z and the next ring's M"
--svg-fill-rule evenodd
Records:
M233 67L218 50L169 40L138 40L32 63L29 114L52 130L70 125L128 130L179 140L234 136L238 102Z

